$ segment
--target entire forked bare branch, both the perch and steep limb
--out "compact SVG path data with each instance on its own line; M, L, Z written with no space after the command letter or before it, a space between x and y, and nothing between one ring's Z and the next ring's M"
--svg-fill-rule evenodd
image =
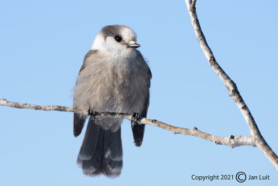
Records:
M90 115L90 117L115 117L115 118L126 118L130 121L137 121L138 123L143 123L147 125L153 125L156 127L161 127L165 130L169 130L174 134L186 134L194 137L199 137L201 139L206 139L208 141L212 141L217 145L226 145L231 148L235 148L238 146L254 146L259 148L268 160L275 166L278 170L278 157L275 152L268 146L265 139L261 135L254 118L245 104L243 98L241 97L236 84L229 78L229 76L222 70L220 65L217 63L215 57L213 56L213 52L210 47L208 47L208 43L206 42L206 38L204 37L204 33L202 32L201 26L199 24L199 20L197 18L196 13L196 0L185 0L186 6L188 8L188 13L190 15L191 24L193 26L193 30L199 41L200 47L202 48L208 63L211 65L211 68L215 71L215 73L220 77L224 86L227 87L229 91L229 96L234 99L234 102L240 109L245 121L250 129L250 136L240 136L240 135L230 135L229 137L216 137L212 134L208 134L206 132L202 132L197 129L197 127L193 127L192 129L187 129L183 127L175 127L173 125L169 125L167 123L163 123L161 121L157 121L156 119L148 119L148 118L135 118L133 114L126 113L115 113L115 112L99 112L99 111L91 111L91 110L83 110L72 107L62 107L57 105L52 106L42 106L37 104L26 104L19 102L9 102L5 99L0 99L0 105L14 107L17 109L34 109L34 110L44 110L44 111L70 111L80 114Z

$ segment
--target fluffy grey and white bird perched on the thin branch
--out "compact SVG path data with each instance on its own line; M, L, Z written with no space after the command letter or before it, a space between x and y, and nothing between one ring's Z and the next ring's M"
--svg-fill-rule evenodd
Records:
M104 26L85 54L74 87L75 108L147 117L152 72L137 49L137 34L124 25ZM74 113L74 137L88 118ZM122 118L89 117L77 164L86 176L120 176ZM145 124L131 121L134 144L141 146Z

